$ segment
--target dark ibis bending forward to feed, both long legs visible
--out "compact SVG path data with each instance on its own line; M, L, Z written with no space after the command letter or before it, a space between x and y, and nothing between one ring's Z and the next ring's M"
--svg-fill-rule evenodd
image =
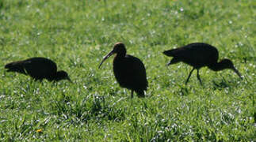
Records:
M229 59L222 59L218 62L219 53L216 47L213 47L207 43L190 43L185 47L178 47L172 50L166 50L163 52L167 56L174 57L167 65L172 65L178 62L185 62L193 66L193 69L189 73L189 77L194 69L197 69L197 79L201 82L199 76L199 69L203 66L208 66L209 69L214 71L220 71L223 69L232 69L242 79L241 74L235 69L233 62ZM189 77L185 81L188 83Z

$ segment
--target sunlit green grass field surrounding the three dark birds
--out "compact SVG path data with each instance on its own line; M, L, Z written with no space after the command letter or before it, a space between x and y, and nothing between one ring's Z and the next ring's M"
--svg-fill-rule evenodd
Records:
M253 0L1 0L0 141L255 141ZM123 42L147 69L147 97L130 99L102 57ZM231 70L183 63L163 50L193 42L217 47ZM42 56L75 84L6 73L8 62ZM37 130L41 129L41 132Z

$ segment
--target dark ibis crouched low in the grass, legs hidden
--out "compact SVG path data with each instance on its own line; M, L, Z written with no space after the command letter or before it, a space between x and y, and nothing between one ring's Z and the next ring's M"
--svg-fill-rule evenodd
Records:
M5 65L7 72L17 72L29 75L35 80L70 80L63 70L57 72L57 65L48 58L29 58L22 61L10 62Z

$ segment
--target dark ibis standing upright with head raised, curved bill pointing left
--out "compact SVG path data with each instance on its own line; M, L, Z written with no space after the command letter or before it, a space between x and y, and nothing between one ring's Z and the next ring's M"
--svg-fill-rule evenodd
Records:
M103 58L99 68L112 54L117 54L113 60L113 71L120 86L132 90L132 97L133 92L136 92L139 97L145 97L147 76L143 62L139 58L126 54L124 43L116 43L113 50Z

